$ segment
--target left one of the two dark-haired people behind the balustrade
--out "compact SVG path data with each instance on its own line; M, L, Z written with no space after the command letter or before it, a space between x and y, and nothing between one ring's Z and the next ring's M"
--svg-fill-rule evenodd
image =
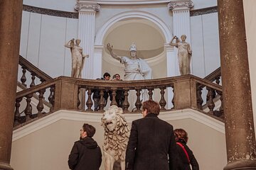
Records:
M103 74L102 78L98 78L98 80L110 80L110 74L108 72L105 72L105 74ZM98 111L99 110L99 103L100 103L100 90L99 89L93 89L92 90L92 99L94 101L94 105L95 105L95 109L94 111ZM107 105L107 98L108 96L111 96L111 91L104 91L103 94L103 98L104 98L104 106Z

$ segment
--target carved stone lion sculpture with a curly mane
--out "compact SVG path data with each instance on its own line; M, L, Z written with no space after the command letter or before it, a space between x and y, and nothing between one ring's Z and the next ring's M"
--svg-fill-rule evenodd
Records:
M105 170L112 170L114 162L120 162L121 169L125 169L129 127L122 113L122 108L113 105L102 115L101 121L105 131L103 145Z

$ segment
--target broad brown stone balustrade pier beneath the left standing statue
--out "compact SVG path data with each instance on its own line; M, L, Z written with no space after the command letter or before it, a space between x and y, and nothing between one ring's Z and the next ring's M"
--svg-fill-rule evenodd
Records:
M78 109L78 84L73 79L60 78L55 85L54 110Z

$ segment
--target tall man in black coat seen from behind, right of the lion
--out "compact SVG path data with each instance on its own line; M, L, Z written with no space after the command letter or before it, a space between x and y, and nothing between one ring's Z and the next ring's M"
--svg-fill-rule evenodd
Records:
M159 103L144 101L144 118L132 122L125 169L126 170L176 170L176 141L174 128L157 117Z

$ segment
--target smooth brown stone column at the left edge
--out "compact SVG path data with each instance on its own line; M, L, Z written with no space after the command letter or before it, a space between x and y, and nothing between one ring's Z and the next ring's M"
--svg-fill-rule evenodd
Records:
M18 76L22 0L0 2L0 169L12 169L11 137Z

